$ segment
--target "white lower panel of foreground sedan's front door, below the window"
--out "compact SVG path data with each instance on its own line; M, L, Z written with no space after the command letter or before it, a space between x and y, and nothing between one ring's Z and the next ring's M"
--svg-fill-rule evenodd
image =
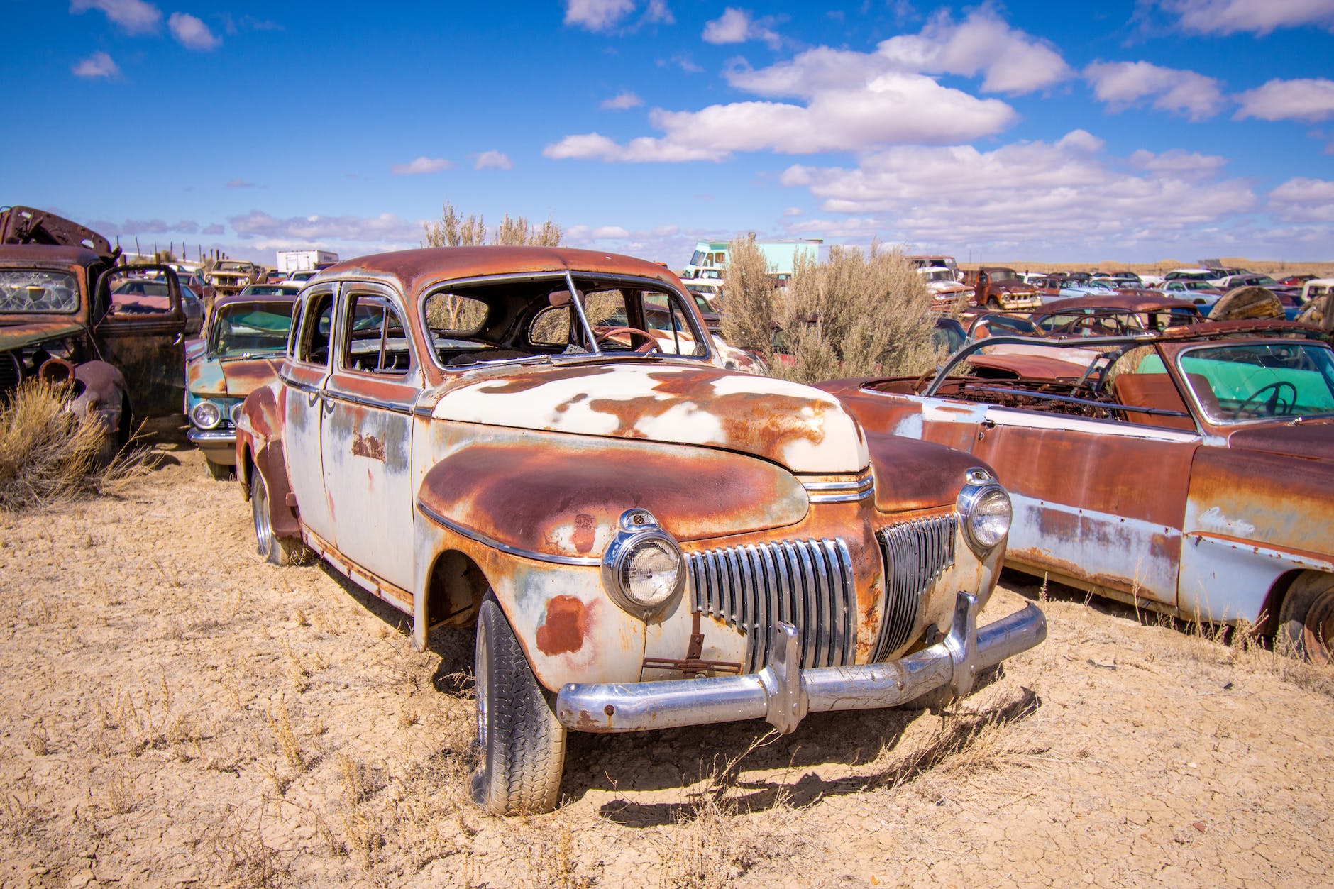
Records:
M412 380L336 371L325 386L320 453L334 545L395 586L412 589Z

